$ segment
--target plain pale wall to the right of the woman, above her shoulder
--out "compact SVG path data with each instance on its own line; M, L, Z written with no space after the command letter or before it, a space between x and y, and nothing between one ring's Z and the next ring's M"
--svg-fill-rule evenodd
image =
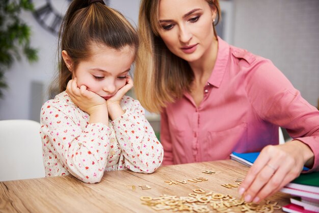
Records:
M317 106L319 1L234 0L234 45L272 60Z

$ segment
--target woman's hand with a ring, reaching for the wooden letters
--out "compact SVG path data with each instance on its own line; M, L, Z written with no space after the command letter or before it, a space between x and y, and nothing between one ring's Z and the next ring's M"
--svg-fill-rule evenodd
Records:
M298 177L303 166L312 166L313 160L310 147L298 140L266 146L249 169L239 193L246 202L257 203Z

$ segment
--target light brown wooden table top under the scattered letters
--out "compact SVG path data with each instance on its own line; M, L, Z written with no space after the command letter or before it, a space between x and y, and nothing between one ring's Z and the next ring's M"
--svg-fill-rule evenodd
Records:
M248 169L235 161L225 160L163 166L153 174L128 170L105 172L101 182L96 184L84 183L71 175L4 181L0 182L0 212L173 212L153 210L143 205L140 197L189 196L194 189L201 189L207 193L228 194L239 200L238 188L228 189L222 184L236 185L236 178L244 178ZM216 173L203 173L206 170ZM189 181L198 177L208 180ZM180 182L170 185L171 180ZM184 180L185 183L181 183ZM140 185L151 189L142 189ZM289 198L290 195L279 192L269 200L283 206L289 203Z

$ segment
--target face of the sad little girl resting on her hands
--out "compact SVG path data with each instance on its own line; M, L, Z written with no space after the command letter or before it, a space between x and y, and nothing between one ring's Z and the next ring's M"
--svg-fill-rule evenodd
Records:
M116 50L102 44L92 44L91 52L88 60L79 62L72 78L76 77L78 87L85 85L89 91L109 99L126 84L135 51L128 45Z

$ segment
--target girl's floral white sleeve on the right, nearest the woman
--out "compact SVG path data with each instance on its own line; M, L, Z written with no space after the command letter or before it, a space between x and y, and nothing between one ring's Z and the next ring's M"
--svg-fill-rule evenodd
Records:
M119 166L124 164L134 172L152 173L162 164L163 146L146 120L140 102L131 98L128 101L130 109L112 121L124 157Z

